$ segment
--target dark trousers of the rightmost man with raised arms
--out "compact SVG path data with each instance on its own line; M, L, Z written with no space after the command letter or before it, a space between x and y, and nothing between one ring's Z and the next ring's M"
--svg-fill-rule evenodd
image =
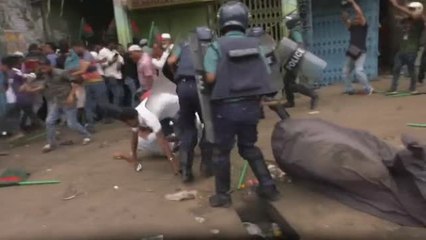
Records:
M410 91L416 90L416 72L415 72L415 62L416 62L417 53L405 53L398 52L394 59L393 66L393 79L391 91L398 90L399 77L401 76L401 70L403 66L407 66L408 73L410 74Z

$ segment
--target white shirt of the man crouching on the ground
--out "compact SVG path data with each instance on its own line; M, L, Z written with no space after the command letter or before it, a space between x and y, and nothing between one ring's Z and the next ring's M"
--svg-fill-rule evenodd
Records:
M161 93L158 103L152 104L153 109L146 108L146 103L149 98L144 99L139 106L136 107L136 110L139 113L139 126L140 127L149 127L152 129L154 134L157 134L161 131L160 121L165 118L175 117L177 111L179 110L179 98L176 95L169 93ZM133 132L138 132L138 128L132 128Z

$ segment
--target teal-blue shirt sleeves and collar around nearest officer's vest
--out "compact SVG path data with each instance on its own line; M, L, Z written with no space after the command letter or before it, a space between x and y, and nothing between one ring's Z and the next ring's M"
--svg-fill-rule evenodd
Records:
M230 38L244 38L246 35L239 31L230 31L225 34L226 37ZM259 46L260 52L262 53L262 59L265 63L266 68L268 69L268 72L270 73L271 70L269 68L267 59L265 57L265 51L264 49ZM219 63L220 58L220 50L219 50L219 43L217 41L214 41L210 47L207 49L206 56L204 56L204 70L207 73L216 73L217 70L217 64Z

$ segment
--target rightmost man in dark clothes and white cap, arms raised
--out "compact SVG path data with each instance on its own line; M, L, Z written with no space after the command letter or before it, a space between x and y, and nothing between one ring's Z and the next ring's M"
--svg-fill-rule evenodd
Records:
M401 6L396 0L389 1L396 10L405 14L407 17L401 21L403 34L400 40L399 51L395 56L392 85L388 92L391 94L397 93L401 69L406 65L411 78L409 91L416 93L415 62L420 46L421 34L425 25L423 4L420 2L411 2L405 7Z

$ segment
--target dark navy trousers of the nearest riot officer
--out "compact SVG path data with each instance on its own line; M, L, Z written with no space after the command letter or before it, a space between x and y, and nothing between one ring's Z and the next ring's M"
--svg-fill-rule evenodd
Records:
M239 154L248 161L260 186L274 185L263 154L255 146L261 111L259 106L258 100L214 103L212 106L216 141L213 152L213 171L217 194L227 194L231 187L230 154L235 138L237 138Z

